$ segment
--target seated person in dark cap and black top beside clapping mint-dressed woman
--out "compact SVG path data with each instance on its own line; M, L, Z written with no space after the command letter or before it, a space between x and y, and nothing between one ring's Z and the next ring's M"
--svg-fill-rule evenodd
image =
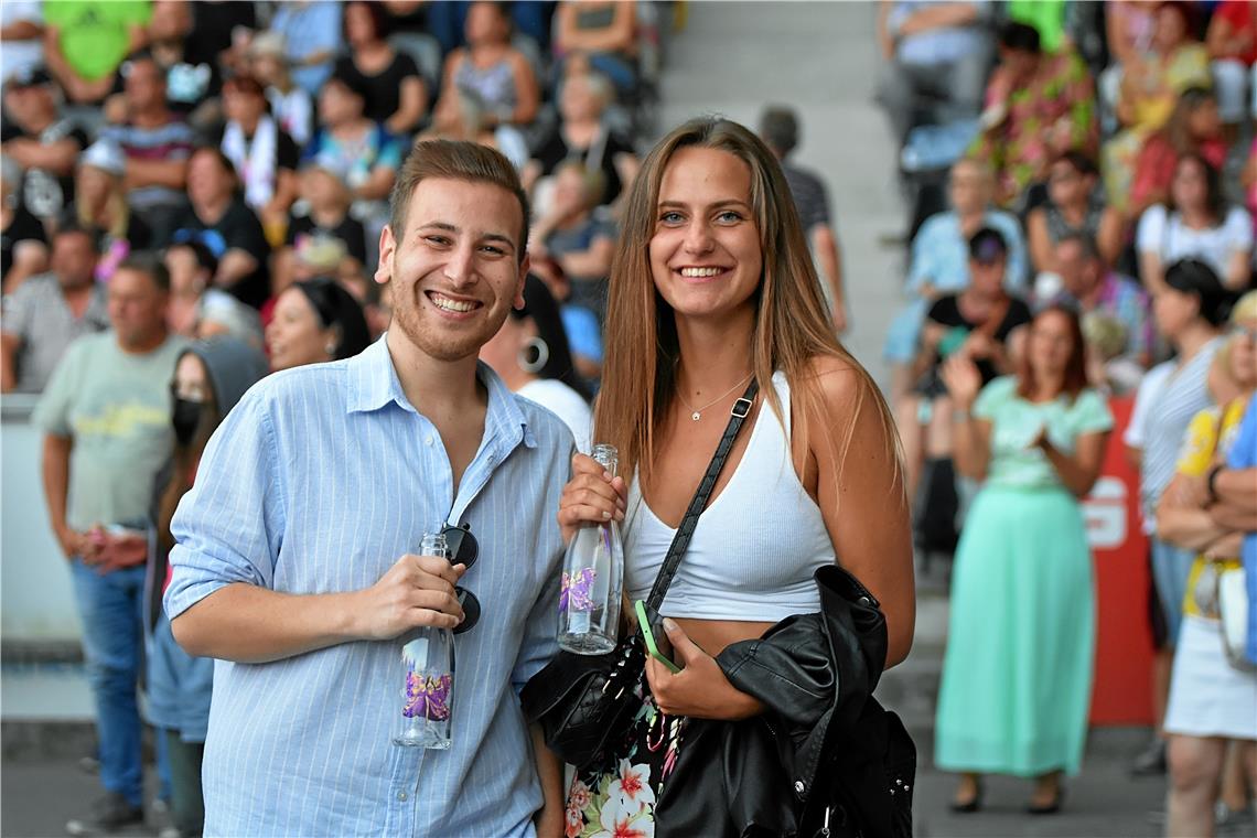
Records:
M952 406L939 379L943 361L954 354L969 358L983 384L1013 369L1014 332L1029 323L1031 312L1004 289L1007 266L1003 235L992 227L979 229L969 237L969 286L940 297L925 317L914 368L916 392L904 398L897 411L909 498L926 457L950 457Z

